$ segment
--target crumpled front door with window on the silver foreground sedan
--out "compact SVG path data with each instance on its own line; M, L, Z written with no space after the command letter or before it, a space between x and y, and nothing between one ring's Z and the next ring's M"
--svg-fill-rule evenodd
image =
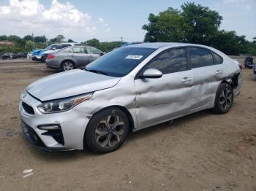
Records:
M162 77L143 77L148 69L161 71ZM192 81L185 47L164 50L153 58L135 77L138 125L146 128L187 114Z

